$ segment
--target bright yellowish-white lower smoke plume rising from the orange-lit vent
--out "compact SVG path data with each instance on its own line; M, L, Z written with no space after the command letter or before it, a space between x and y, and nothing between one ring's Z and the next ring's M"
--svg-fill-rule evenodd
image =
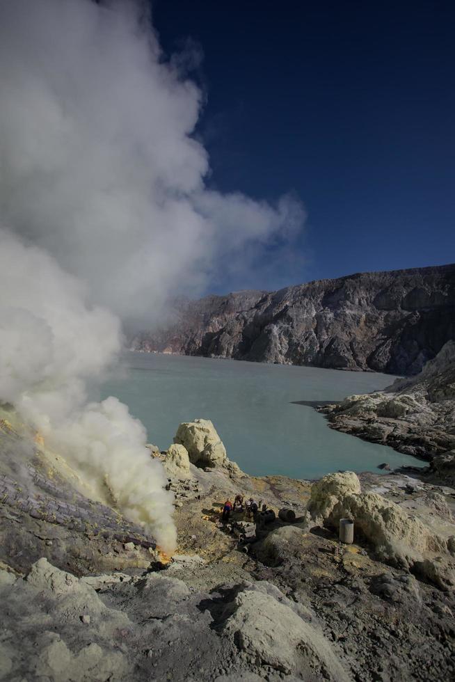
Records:
M110 397L87 404L86 380L120 350L120 324L35 246L0 230L0 399L16 406L88 484L93 497L175 547L173 498L141 422Z

